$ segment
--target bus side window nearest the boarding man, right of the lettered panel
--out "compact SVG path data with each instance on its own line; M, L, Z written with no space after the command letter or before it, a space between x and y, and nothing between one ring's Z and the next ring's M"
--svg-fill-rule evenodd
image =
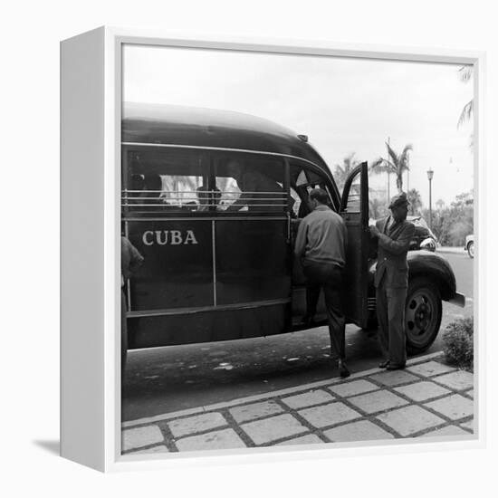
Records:
M219 209L226 213L284 213L288 196L283 159L263 155L221 155L215 158Z

